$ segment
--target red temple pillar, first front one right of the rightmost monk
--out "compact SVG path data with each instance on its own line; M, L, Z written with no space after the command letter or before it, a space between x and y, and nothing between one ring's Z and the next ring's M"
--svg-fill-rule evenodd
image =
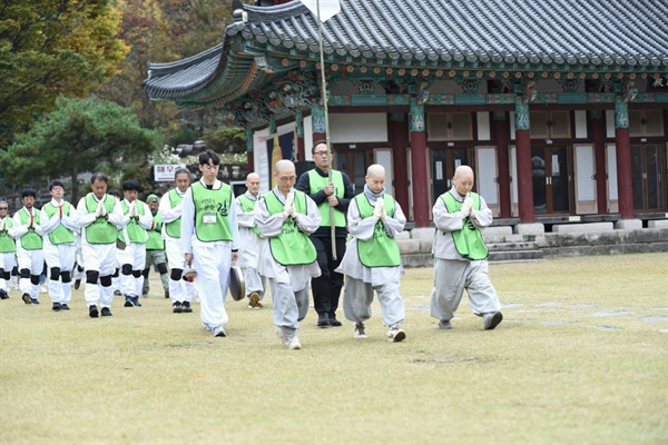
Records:
M533 177L531 170L531 136L529 134L529 103L521 96L515 98L515 150L518 161L518 205L520 222L532 224Z

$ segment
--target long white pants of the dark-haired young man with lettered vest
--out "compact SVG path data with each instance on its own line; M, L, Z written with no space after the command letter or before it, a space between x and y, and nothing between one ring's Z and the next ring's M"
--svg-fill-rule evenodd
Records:
M225 297L229 286L232 247L229 241L203 243L193 237L193 267L197 271L202 324L207 329L225 328L228 322Z

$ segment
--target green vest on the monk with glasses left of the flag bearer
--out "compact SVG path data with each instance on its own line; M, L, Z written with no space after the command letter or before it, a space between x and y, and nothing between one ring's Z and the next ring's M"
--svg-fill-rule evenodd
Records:
M278 200L273 190L264 195L269 214L283 212L283 202ZM295 190L295 209L298 214L306 214L306 195ZM281 235L269 238L272 256L283 266L307 265L315 261L317 253L308 236L297 227L293 218L283 222Z

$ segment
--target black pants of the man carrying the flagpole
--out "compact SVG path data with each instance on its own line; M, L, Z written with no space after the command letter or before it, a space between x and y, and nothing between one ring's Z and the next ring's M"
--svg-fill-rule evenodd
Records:
M336 260L332 258L332 237L311 237L317 251L317 265L322 275L311 279L313 306L318 315L333 317L338 308L338 297L343 287L343 274L334 271L345 254L345 238L336 238Z

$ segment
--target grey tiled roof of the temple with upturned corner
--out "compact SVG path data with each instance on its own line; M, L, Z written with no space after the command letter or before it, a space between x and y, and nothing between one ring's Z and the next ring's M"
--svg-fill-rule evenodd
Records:
M666 0L341 0L341 6L323 26L331 61L588 72L668 68ZM318 60L316 18L299 1L244 10L245 21L230 24L222 44L149 65L147 93L199 100L195 96L215 96L214 83L218 91L239 88L253 57L235 56L232 39L253 41L259 53ZM244 67L233 67L244 58Z

